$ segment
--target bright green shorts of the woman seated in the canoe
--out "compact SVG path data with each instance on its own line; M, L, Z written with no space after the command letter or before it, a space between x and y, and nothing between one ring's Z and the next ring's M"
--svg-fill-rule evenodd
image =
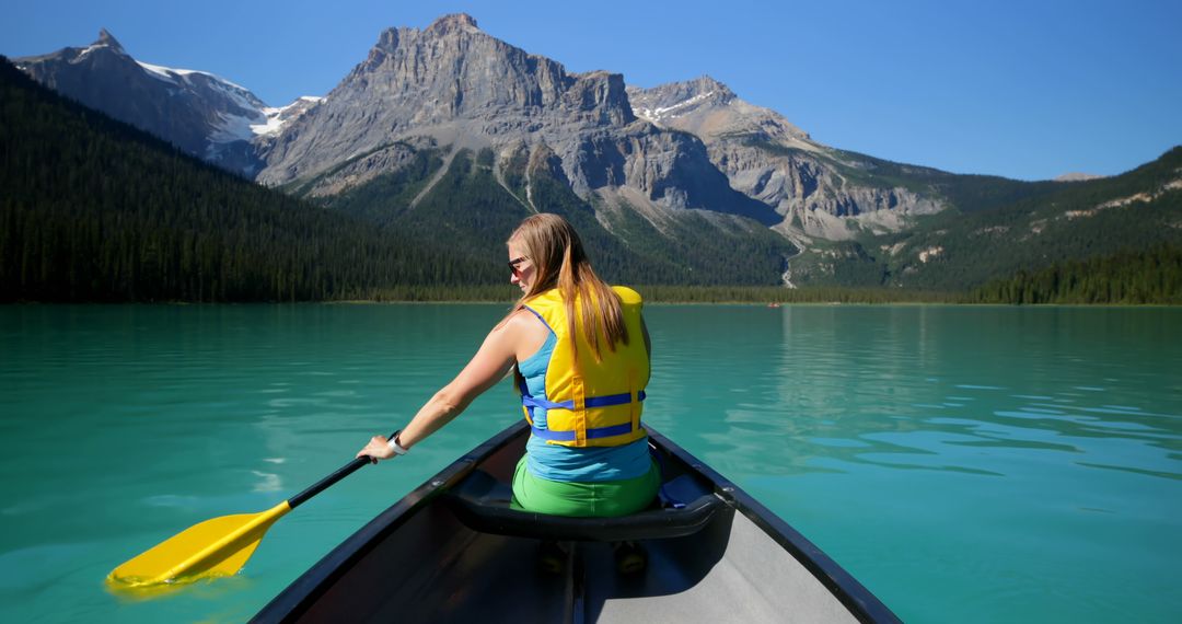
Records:
M513 508L551 515L628 515L651 505L660 488L656 464L635 479L578 483L533 476L522 456L513 473Z

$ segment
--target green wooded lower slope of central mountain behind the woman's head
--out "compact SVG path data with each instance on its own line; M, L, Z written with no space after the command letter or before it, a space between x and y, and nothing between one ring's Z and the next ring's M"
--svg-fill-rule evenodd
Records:
M538 158L530 169L524 154L495 163L489 149L461 150L420 197L448 155L436 148L402 148L415 151L408 165L316 201L473 262L504 255L504 238L535 208L560 214L578 229L597 271L628 284L772 286L780 284L784 259L795 253L756 221L704 210L682 210L658 230L630 206L579 199L553 163ZM501 167L504 184L494 167ZM307 193L317 182L293 190ZM505 279L500 273L472 277Z

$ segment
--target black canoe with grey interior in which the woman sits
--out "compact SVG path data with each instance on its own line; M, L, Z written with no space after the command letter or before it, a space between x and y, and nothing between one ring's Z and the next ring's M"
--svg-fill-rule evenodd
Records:
M787 522L648 431L664 482L650 509L604 519L512 508L530 433L519 422L384 511L252 622L898 622ZM624 540L647 557L641 571L621 572L613 547Z

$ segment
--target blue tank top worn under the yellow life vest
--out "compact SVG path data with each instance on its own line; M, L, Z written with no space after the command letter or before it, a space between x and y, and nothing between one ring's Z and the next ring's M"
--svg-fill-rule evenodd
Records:
M550 332L545 344L537 353L518 363L518 371L525 377L530 395L546 397L546 369L550 368L550 356L554 352L558 337ZM534 408L533 423L546 427L546 410ZM545 440L531 435L526 442L526 469L539 479L551 481L619 481L635 479L649 472L652 460L649 459L649 441L641 438L622 447L564 447L547 444Z

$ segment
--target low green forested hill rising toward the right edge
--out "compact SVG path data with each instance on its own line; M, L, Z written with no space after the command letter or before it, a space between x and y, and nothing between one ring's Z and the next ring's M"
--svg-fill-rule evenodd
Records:
M1117 176L1047 183L1038 195L992 209L818 245L794 258L788 274L797 285L959 291L1162 246L1182 249L1182 147Z

